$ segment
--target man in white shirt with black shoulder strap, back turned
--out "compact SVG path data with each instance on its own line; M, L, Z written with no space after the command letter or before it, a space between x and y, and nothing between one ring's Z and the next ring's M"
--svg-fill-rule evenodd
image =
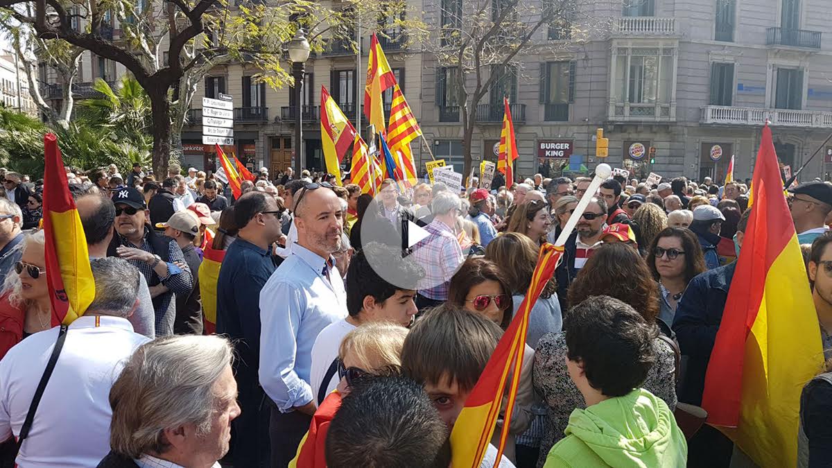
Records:
M127 358L149 340L126 319L136 310L141 273L114 257L91 264L96 297L66 331L17 466L96 466L110 450L110 388ZM0 440L20 435L59 329L29 336L0 361Z

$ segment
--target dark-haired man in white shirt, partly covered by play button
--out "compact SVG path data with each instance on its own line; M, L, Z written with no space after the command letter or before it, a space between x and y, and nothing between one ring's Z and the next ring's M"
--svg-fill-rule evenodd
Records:
M377 265L385 265L383 278L370 265L368 256ZM368 242L349 263L344 283L347 292L349 316L322 330L312 346L312 370L310 384L318 405L335 389L338 376L338 350L341 341L356 326L370 321L392 321L410 326L416 316L416 283L423 271L412 259L401 252L378 242ZM395 281L390 284L387 280ZM411 284L414 289L401 286Z

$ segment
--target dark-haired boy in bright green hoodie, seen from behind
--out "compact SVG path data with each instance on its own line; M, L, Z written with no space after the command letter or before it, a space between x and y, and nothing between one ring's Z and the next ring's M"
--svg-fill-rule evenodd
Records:
M638 388L653 365L655 326L609 296L582 301L567 314L567 370L587 401L572 411L566 438L544 468L685 466L687 443L664 401Z

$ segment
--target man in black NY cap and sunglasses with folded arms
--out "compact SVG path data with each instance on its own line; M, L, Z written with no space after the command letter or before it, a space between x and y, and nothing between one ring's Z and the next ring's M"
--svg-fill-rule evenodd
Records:
M116 232L107 256L120 256L141 271L150 287L156 312L156 337L173 334L176 297L191 292L191 269L182 249L170 237L160 236L147 225L150 217L145 197L133 187L112 194L116 205Z

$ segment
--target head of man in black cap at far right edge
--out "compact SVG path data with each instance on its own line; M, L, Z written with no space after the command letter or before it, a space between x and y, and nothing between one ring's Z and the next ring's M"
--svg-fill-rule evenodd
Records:
M804 182L790 188L789 209L795 222L797 241L811 244L824 232L829 231L824 223L832 212L832 184L829 182Z

